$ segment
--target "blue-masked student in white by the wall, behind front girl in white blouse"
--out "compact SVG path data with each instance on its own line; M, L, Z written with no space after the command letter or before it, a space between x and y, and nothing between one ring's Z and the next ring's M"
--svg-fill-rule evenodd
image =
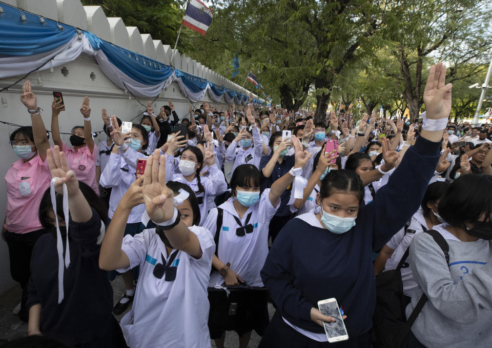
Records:
M116 118L113 116L112 122L116 125L115 119ZM101 174L99 181L101 186L105 188L112 188L108 211L110 221L113 219L114 212L116 211L116 207L118 206L121 197L123 197L130 185L135 181L136 167L133 167L133 163L131 163L132 161L128 161L128 157L126 158L122 156L119 151L135 151L139 154L140 158L146 159L147 156L142 154L142 151L145 151L147 148L148 140L144 139L142 133L146 133L146 131L141 125L138 124L133 125L132 131L128 136L126 136L126 140L119 126L114 126L114 129L111 132L111 137L113 138L115 146L113 147L109 157L109 162ZM146 228L146 226L141 222L144 211L144 204L140 204L132 209L125 227L125 235L134 236ZM114 280L116 273L111 272L108 276L111 280ZM133 270L133 274L132 271L129 270L122 275L123 281L125 282L125 294L114 306L114 314L119 315L125 312L127 307L132 302L135 295L133 280L137 276L138 269Z

